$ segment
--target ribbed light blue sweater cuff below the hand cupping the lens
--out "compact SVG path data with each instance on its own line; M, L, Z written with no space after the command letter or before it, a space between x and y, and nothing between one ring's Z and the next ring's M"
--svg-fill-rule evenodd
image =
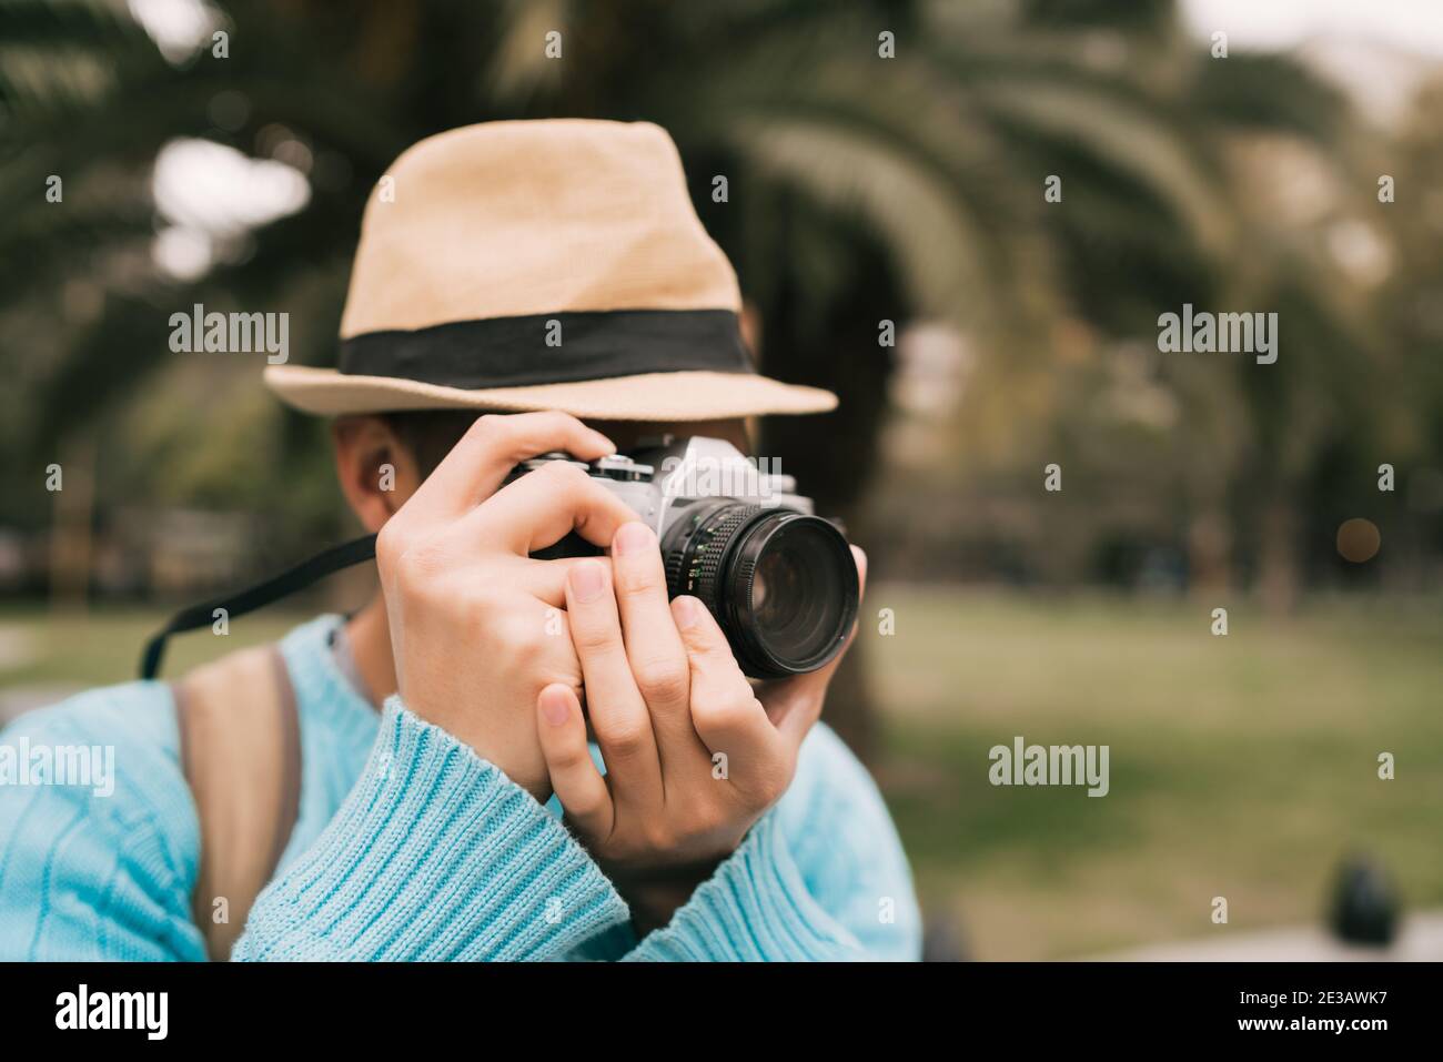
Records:
M861 945L812 899L776 808L763 815L670 925L628 961L775 962L863 958Z

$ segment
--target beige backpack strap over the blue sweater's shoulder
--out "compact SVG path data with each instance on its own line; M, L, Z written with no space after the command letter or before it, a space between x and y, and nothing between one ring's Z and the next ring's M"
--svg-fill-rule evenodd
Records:
M192 916L211 958L228 960L296 825L296 693L280 649L267 645L196 668L175 698L180 763L201 818Z

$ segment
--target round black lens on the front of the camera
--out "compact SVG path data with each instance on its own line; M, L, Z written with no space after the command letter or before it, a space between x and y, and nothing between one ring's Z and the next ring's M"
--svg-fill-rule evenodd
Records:
M671 596L700 597L753 678L815 671L857 618L856 561L820 517L701 504L672 525L662 553Z

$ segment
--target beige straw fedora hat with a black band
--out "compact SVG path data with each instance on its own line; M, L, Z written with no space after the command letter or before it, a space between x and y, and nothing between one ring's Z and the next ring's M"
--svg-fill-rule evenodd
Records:
M496 121L420 141L367 203L333 369L266 384L323 416L561 410L596 420L824 413L758 375L732 264L648 123Z

